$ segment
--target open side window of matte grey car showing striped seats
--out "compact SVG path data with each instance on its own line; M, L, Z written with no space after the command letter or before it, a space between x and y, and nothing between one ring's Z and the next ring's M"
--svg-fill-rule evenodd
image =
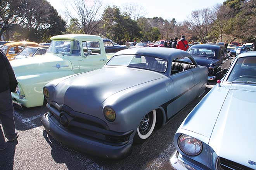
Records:
M171 63L171 75L196 68L195 63L189 57L178 57Z

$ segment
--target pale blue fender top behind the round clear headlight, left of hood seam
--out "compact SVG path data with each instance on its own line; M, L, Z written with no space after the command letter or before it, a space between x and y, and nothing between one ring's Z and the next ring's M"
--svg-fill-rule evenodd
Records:
M221 87L215 85L190 112L180 128L199 134L194 137L208 144L230 86L224 83L221 83Z

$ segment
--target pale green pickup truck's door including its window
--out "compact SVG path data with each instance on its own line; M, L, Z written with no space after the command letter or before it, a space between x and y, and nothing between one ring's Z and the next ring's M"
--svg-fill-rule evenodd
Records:
M97 39L82 40L82 57L78 61L80 72L92 71L104 66L106 63L106 53L103 51L104 46L100 44L100 40Z

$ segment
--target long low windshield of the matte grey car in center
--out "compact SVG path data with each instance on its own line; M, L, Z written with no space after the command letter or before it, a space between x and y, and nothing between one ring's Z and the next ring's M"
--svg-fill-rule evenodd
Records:
M147 70L165 72L167 61L165 59L142 56L142 55L118 55L113 56L106 66L128 66L134 68L142 68Z

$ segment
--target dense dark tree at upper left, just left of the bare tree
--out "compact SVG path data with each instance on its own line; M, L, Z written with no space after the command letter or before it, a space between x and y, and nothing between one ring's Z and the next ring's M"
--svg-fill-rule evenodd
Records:
M23 36L30 41L49 41L50 36L66 31L66 22L46 0L21 0L17 21Z

